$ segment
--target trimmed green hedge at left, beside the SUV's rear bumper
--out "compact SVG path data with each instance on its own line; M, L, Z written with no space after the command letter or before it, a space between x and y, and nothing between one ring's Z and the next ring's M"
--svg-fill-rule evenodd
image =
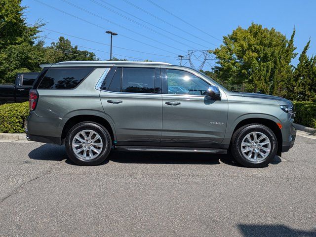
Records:
M0 105L0 133L23 133L29 102Z

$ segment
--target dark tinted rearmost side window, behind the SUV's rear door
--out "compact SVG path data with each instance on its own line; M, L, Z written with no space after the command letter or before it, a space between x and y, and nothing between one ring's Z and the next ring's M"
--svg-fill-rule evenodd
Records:
M75 88L94 68L50 68L40 82L40 89Z

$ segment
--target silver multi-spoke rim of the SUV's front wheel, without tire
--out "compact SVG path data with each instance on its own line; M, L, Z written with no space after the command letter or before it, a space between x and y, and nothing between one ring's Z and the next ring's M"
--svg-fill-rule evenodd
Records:
M271 151L271 141L262 132L248 133L241 142L241 153L252 162L260 162L267 158Z

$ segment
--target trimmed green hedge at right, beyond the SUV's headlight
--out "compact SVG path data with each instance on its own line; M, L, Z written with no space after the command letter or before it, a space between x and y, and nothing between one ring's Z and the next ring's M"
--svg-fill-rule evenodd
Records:
M316 103L311 101L293 102L296 111L295 123L308 127L316 127Z

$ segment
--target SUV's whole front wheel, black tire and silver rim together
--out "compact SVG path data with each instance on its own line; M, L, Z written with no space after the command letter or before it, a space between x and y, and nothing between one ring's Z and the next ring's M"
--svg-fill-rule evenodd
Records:
M247 124L234 133L231 152L243 166L265 167L276 156L276 135L262 124Z

